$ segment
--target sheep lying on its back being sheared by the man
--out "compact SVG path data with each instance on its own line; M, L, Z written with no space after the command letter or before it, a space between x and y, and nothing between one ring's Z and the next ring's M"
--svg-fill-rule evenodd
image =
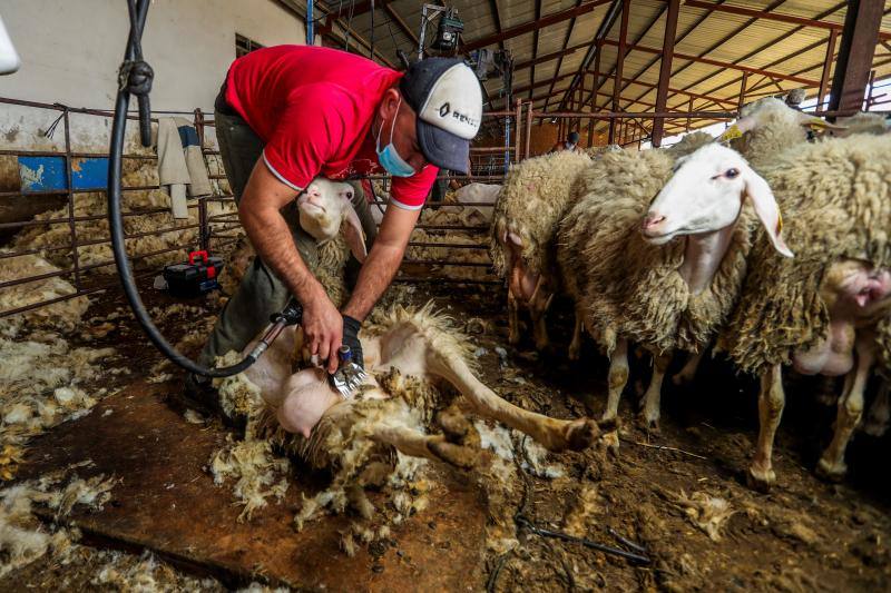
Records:
M301 224L319 229L320 240L337 236L336 225L311 224L310 219L334 211L336 205L330 202L339 200L343 201L325 187L313 200L301 197ZM311 201L314 206L307 207ZM341 216L349 220L349 215ZM298 523L315 508L339 507L337 501L347 498L364 516L370 503L362 486L386 478L392 464L381 462L392 461L393 451L472 467L479 435L457 408L446 409L439 384L457 388L470 411L522 431L551 451L585 448L597 436L597 425L590 419L550 418L498 397L474 376L468 339L429 306L418 312L396 307L374 317L376 323L366 324L360 334L369 377L350 399L331 387L323 369L311 366L295 372L306 357L302 330L294 327L285 329L244 374L215 382L224 412L246 416L251 437L272 438L313 466L334 471L327 492L339 495L310 504ZM437 413L441 434L430 434L428 427Z

